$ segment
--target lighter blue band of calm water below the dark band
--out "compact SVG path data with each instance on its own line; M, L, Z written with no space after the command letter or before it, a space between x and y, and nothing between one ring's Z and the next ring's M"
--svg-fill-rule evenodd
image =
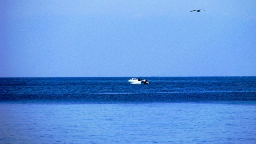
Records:
M255 143L256 105L1 104L1 143Z

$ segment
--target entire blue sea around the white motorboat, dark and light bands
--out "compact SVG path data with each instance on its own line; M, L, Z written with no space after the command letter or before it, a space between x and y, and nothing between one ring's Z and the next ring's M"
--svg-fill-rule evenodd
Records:
M256 144L256 77L130 78L0 78L0 144Z

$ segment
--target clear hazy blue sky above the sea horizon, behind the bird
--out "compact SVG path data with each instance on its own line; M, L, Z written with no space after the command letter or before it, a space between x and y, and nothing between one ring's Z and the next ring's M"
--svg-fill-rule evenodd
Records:
M59 76L256 76L256 0L0 0L0 77Z

